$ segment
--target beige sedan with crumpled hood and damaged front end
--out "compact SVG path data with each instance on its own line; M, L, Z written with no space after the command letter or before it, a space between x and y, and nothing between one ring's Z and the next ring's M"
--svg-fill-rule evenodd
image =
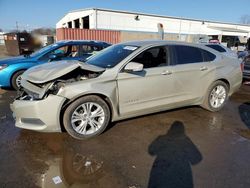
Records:
M109 122L189 105L218 111L239 89L238 60L206 46L135 41L111 46L87 62L33 67L11 104L16 126L77 139Z

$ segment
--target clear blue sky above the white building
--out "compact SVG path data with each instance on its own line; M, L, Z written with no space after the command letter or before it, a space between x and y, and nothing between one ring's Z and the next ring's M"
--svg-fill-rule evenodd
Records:
M250 14L250 0L0 0L0 28L55 27L68 11L90 7L233 23Z

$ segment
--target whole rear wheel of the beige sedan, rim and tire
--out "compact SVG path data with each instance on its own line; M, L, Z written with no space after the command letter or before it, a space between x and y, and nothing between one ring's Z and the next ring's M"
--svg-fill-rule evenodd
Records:
M223 81L214 82L208 89L202 107L216 112L223 108L228 99L228 85Z

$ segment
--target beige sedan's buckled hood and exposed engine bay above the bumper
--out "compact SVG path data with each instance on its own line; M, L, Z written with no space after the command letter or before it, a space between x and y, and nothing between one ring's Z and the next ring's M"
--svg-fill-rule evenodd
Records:
M79 61L46 63L22 75L21 92L17 99L41 100L56 95L66 84L96 78L105 69Z

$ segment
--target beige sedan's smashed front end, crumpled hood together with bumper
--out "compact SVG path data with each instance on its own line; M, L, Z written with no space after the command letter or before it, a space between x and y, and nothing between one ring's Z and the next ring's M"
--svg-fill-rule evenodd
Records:
M67 99L57 95L58 92L70 83L96 78L103 71L74 61L56 62L26 71L22 76L22 87L11 104L16 127L60 132L60 113Z

